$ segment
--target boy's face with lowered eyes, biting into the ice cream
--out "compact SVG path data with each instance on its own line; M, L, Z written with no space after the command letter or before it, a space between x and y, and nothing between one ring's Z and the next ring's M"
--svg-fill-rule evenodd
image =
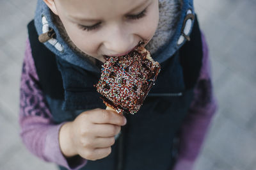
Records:
M86 54L122 56L154 35L158 0L44 0ZM49 3L52 2L52 3Z

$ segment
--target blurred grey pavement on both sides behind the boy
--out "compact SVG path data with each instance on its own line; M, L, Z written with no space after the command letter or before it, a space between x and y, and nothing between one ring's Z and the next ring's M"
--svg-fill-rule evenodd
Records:
M19 137L19 81L26 24L36 1L0 1L0 169L57 169ZM194 0L209 44L219 109L195 170L256 169L256 1ZM186 169L184 169L186 170Z

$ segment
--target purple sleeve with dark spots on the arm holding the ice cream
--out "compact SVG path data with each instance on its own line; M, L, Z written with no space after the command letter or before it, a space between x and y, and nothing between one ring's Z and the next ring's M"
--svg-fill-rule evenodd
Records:
M20 82L19 123L22 141L29 151L47 162L54 162L68 169L79 169L86 164L86 160L77 157L68 161L62 155L58 137L63 123L56 125L52 122L51 112L38 82L30 43L27 40Z

